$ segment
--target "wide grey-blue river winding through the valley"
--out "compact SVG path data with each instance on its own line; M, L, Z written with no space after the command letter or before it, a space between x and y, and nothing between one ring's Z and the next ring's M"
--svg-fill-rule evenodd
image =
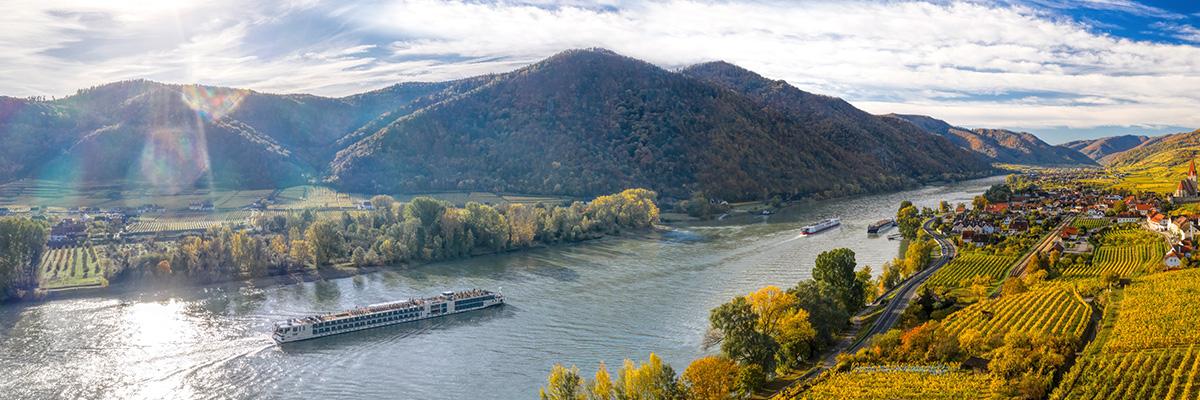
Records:
M868 223L904 199L970 203L1000 180L329 281L4 305L0 398L535 399L554 363L590 376L604 360L616 376L624 358L649 352L682 372L707 353L712 308L808 279L816 255L834 247L877 267L900 244L868 238ZM830 216L842 226L799 235ZM282 347L269 338L276 320L472 287L503 288L509 304Z

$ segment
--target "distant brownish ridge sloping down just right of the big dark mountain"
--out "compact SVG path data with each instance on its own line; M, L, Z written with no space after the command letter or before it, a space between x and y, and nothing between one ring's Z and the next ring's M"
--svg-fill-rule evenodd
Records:
M1050 145L1028 132L997 129L968 130L926 115L888 114L884 117L912 123L926 132L946 137L964 149L984 154L997 162L1034 166L1096 165L1096 161L1075 149Z

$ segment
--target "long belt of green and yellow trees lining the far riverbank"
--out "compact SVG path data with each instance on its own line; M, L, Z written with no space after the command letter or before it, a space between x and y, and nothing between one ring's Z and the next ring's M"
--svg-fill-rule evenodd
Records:
M341 277L388 265L576 243L652 228L659 221L656 196L629 189L588 203L492 207L470 202L462 208L428 197L398 202L374 196L368 210L264 215L242 228L223 225L179 240L97 245L106 246L102 261L91 251L79 252L86 259L54 263L42 261L52 251L46 221L4 217L0 300L44 297L47 288L38 285L44 275L58 276L61 270L74 276L74 265L91 265L89 261L115 270L106 276L113 283L209 285Z

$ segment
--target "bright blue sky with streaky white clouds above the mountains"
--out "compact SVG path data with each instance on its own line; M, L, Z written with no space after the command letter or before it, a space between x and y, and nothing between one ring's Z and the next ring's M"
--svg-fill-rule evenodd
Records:
M1200 127L1200 1L17 1L0 95L148 78L343 96L605 47L1051 143Z

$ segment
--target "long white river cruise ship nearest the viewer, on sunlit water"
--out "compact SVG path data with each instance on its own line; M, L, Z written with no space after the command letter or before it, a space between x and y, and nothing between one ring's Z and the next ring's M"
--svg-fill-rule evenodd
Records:
M436 318L504 304L504 294L482 289L442 292L424 299L382 303L275 324L271 339L284 344L390 324Z

